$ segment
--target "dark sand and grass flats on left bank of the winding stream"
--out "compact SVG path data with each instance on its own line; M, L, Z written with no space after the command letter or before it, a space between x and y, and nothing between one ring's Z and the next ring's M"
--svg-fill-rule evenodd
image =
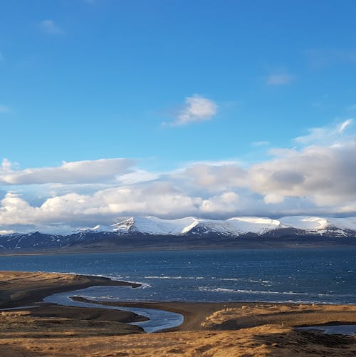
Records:
M70 333L73 336L98 336L98 334L107 336L142 332L142 328L125 323L145 321L146 318L129 311L86 309L41 302L45 296L51 294L98 285L128 285L133 288L140 286L140 284L112 281L100 276L0 271L0 309L38 306L24 311L23 309L1 311L1 338L12 336L12 333L42 336L44 332L46 336L61 337L63 328L71 328L73 331Z

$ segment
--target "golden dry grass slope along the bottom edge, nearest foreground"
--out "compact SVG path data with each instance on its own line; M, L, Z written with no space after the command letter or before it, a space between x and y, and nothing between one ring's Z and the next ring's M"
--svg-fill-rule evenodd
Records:
M2 353L2 354L1 354ZM6 354L7 353L7 354ZM239 331L4 338L0 356L355 356L355 339L268 325Z

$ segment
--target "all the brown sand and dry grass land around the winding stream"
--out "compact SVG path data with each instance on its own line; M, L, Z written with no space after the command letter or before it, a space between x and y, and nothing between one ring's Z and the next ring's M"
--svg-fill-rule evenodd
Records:
M138 284L97 276L0 271L0 356L355 356L356 338L294 326L356 324L356 306L267 303L120 303L184 315L144 333L127 311L58 306L43 297L96 285ZM78 299L78 298L77 298ZM88 302L88 301L87 301ZM95 301L98 303L98 301Z

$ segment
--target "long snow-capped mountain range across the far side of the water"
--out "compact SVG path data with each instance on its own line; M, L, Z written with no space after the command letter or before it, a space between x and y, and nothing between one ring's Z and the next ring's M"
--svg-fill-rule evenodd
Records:
M5 232L4 230L0 232ZM150 239L149 239L150 238ZM157 217L130 217L111 226L95 225L93 228L76 229L63 234L41 232L0 234L0 252L6 250L41 250L80 247L148 247L150 242L167 244L192 242L204 246L229 239L229 243L240 242L299 242L305 239L347 238L356 244L356 217L330 218L291 216L280 219L266 217L232 217L226 220L160 219ZM350 238L350 239L349 239Z

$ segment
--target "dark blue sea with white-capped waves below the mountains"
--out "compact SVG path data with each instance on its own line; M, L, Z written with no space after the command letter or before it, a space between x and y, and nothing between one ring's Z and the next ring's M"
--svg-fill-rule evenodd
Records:
M137 281L73 295L118 301L356 304L356 247L125 252L0 257L0 270L56 271Z

